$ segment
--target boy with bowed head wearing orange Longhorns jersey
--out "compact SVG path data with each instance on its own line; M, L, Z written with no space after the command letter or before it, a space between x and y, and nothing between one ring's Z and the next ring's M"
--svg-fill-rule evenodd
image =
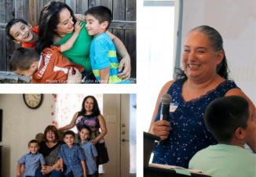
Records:
M31 48L16 49L9 67L22 77L32 76L32 84L65 84L71 67L76 68L75 72L82 73L82 78L88 78L81 65L71 63L60 53L60 45L44 49L41 56Z

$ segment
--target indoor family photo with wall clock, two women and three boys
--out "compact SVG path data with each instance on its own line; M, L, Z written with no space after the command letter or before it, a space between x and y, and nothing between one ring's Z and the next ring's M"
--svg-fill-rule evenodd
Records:
M1 94L2 176L136 175L136 98Z

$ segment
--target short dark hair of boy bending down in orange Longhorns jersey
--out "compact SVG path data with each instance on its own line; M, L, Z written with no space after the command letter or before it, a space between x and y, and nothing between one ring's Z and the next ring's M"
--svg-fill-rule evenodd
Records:
M10 70L29 70L31 64L35 61L39 61L40 56L31 48L19 48L13 52L12 58L9 61Z

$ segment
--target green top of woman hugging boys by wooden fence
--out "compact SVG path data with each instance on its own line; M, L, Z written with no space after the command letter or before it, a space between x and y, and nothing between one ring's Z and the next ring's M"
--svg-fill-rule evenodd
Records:
M86 31L86 23L82 22L83 27L80 31L79 37L76 39L73 47L61 54L68 58L71 63L76 63L82 65L85 68L88 74L92 74L93 70L90 64L90 43L93 40L93 36L90 36ZM62 45L71 38L74 31L70 34L67 34L60 40L53 45Z

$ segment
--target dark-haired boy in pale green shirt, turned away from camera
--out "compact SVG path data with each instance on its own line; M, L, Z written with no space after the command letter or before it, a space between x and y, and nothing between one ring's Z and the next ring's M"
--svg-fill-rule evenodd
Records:
M189 168L213 177L255 176L256 155L243 149L245 143L255 138L255 119L247 99L215 99L207 107L204 121L218 144L200 150L189 161Z

